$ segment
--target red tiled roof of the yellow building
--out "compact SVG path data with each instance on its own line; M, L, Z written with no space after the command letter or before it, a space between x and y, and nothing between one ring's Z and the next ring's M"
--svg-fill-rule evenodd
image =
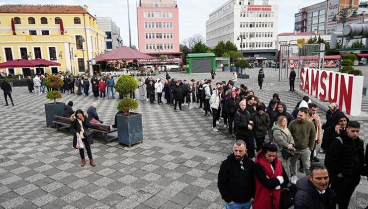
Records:
M88 13L79 5L31 5L31 4L4 4L0 5L0 13Z

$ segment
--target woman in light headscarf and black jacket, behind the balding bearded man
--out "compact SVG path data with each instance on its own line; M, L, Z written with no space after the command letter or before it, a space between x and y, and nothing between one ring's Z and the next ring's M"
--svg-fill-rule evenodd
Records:
M247 145L247 153L250 159L254 158L254 141L252 137L253 122L251 122L251 114L246 110L247 102L241 101L240 108L235 112L234 123L236 125L236 139L245 141Z

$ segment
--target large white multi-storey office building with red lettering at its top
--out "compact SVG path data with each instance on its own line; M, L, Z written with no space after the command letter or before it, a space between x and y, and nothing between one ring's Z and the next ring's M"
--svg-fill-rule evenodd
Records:
M244 59L275 60L277 22L276 0L228 0L209 14L206 44L214 48L229 40Z

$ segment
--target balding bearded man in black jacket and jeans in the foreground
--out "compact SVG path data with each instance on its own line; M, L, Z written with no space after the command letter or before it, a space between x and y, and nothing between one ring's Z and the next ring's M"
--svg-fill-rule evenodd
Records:
M236 140L231 153L221 163L217 187L226 208L249 209L255 195L253 161L245 154L246 144Z

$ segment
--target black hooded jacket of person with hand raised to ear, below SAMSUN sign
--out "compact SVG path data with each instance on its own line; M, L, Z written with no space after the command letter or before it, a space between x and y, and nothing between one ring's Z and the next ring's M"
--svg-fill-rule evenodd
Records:
M322 137L322 144L321 144L321 148L322 149L325 149L325 150L328 150L330 145L331 145L331 141L340 136L340 134L346 132L346 129L342 129L340 130L340 134L336 133L335 131L335 126L338 124L339 120L341 118L345 117L346 118L346 124L349 123L349 118L344 114L344 112L342 111L338 111L336 112L336 114L334 115L334 121L333 123L331 123L330 126L328 126L327 128L325 128L325 131L323 132L323 137Z

